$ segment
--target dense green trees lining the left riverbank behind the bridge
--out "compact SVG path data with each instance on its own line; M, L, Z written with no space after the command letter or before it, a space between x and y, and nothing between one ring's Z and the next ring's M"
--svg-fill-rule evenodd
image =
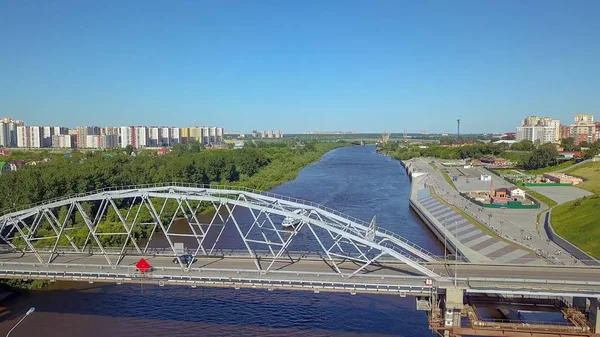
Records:
M112 157L102 153L92 153L83 158L55 157L52 161L25 168L0 176L0 209L25 208L43 200L49 200L75 193L85 193L105 187L124 185L152 184L158 182L183 182L195 184L238 185L259 190L268 190L285 181L294 179L298 171L317 161L327 151L345 146L345 143L307 143L293 147L257 147L240 150L201 150L196 146L179 147L176 151L163 156L146 155L130 156L117 154ZM154 199L153 205L160 209L163 200ZM136 214L140 205L131 205L131 200L118 203L123 217L127 212ZM190 202L192 208L198 202ZM95 214L100 203L83 203L87 214ZM132 209L129 210L129 207ZM206 211L209 205L200 205L199 212ZM178 204L171 200L166 204L162 214L163 221L170 221L175 215ZM67 207L55 212L58 221L66 220L66 228L70 238L78 246L88 239L89 229L79 212L74 212L67 219ZM131 219L131 218L130 218ZM152 216L146 207L139 210L137 223L151 222ZM148 238L151 225L136 225L133 236L139 239ZM24 234L28 234L24 228ZM98 233L124 232L117 211L108 208L98 225ZM42 221L35 237L56 235L46 220ZM123 245L126 236L101 236L103 245ZM24 241L16 235L13 243L24 245ZM54 239L38 240L36 246L48 246ZM95 242L88 242L94 246ZM61 237L59 245L69 245L66 236Z

